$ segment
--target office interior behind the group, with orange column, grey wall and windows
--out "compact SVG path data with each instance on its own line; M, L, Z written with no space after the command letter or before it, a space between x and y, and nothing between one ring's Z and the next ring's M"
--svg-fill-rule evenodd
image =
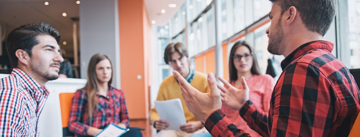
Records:
M267 51L271 6L268 0L0 0L0 74L11 72L7 34L22 24L47 22L62 35L59 45L76 78L86 79L90 57L105 53L130 119L147 119L159 85L172 75L163 60L169 43L188 47L190 68L228 79L230 49L244 40L255 49L262 74L269 58L281 72L284 57ZM334 43L332 53L349 69L360 68L360 0L337 0L324 40Z

